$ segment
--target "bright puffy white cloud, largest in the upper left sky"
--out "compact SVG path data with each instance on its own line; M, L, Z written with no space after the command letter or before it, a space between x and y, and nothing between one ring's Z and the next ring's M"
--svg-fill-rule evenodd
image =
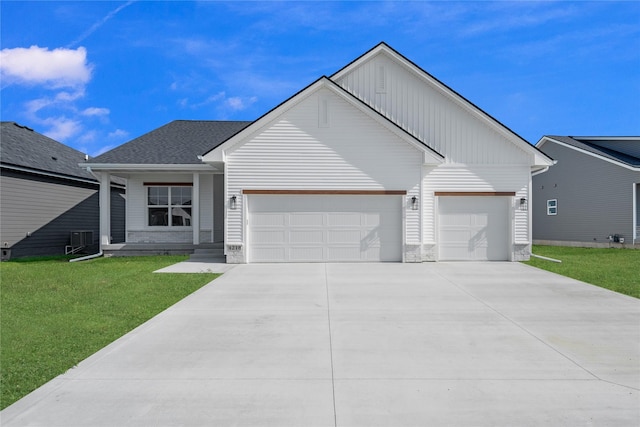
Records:
M2 49L0 75L11 84L44 85L51 88L82 87L91 79L87 50L31 46Z

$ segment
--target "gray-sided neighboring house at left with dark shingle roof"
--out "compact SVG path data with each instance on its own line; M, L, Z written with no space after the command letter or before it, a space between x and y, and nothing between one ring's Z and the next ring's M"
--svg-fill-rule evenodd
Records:
M2 259L97 251L99 184L79 166L85 155L14 122L0 128ZM124 186L112 185L114 241L124 241L124 204Z

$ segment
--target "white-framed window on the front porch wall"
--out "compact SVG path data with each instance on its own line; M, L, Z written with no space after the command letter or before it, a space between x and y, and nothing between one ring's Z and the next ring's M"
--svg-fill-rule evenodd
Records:
M148 186L147 225L151 227L191 226L191 185Z

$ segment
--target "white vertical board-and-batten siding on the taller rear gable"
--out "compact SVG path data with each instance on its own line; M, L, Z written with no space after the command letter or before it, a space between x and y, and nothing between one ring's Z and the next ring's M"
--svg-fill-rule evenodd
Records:
M336 82L411 135L445 156L445 163L526 164L532 154L489 126L465 103L445 94L400 63L379 53Z

